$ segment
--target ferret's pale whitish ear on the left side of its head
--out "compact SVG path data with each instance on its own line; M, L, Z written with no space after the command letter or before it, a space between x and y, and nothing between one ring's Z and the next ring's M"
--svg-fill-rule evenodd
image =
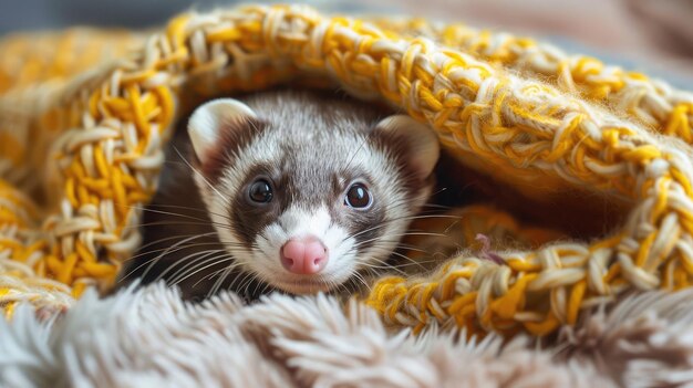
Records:
M200 105L188 120L188 135L193 149L201 162L218 144L221 130L235 122L256 118L248 105L232 98L214 99Z

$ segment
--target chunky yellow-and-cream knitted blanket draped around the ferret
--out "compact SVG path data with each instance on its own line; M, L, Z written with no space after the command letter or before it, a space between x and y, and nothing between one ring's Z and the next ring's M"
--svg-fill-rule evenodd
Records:
M510 34L300 6L183 14L149 35L41 35L44 51L28 50L32 39L0 42L8 314L21 301L70 306L113 283L138 247L180 106L299 76L405 109L525 195L575 187L629 205L590 243L534 239L537 249L498 251L505 263L463 254L434 273L376 280L365 300L386 323L545 335L625 290L693 280L693 95L643 74ZM523 234L508 214L478 214Z

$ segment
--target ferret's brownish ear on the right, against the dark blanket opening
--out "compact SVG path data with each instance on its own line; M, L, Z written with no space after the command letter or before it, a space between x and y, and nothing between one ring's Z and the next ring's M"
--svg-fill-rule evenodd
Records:
M410 162L421 179L426 179L433 172L441 156L441 145L431 127L411 116L394 115L377 123L376 130L392 134L407 146L411 151Z

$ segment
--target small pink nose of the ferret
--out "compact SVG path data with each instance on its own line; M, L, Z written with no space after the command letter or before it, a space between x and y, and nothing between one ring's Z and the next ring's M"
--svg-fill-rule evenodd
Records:
M328 250L314 237L289 240L280 256L285 269L300 275L318 273L328 264Z

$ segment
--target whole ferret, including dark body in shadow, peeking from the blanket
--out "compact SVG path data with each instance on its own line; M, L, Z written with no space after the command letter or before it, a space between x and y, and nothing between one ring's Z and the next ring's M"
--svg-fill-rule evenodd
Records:
M386 268L439 156L426 125L328 92L213 99L186 129L121 277L189 300L330 292Z

